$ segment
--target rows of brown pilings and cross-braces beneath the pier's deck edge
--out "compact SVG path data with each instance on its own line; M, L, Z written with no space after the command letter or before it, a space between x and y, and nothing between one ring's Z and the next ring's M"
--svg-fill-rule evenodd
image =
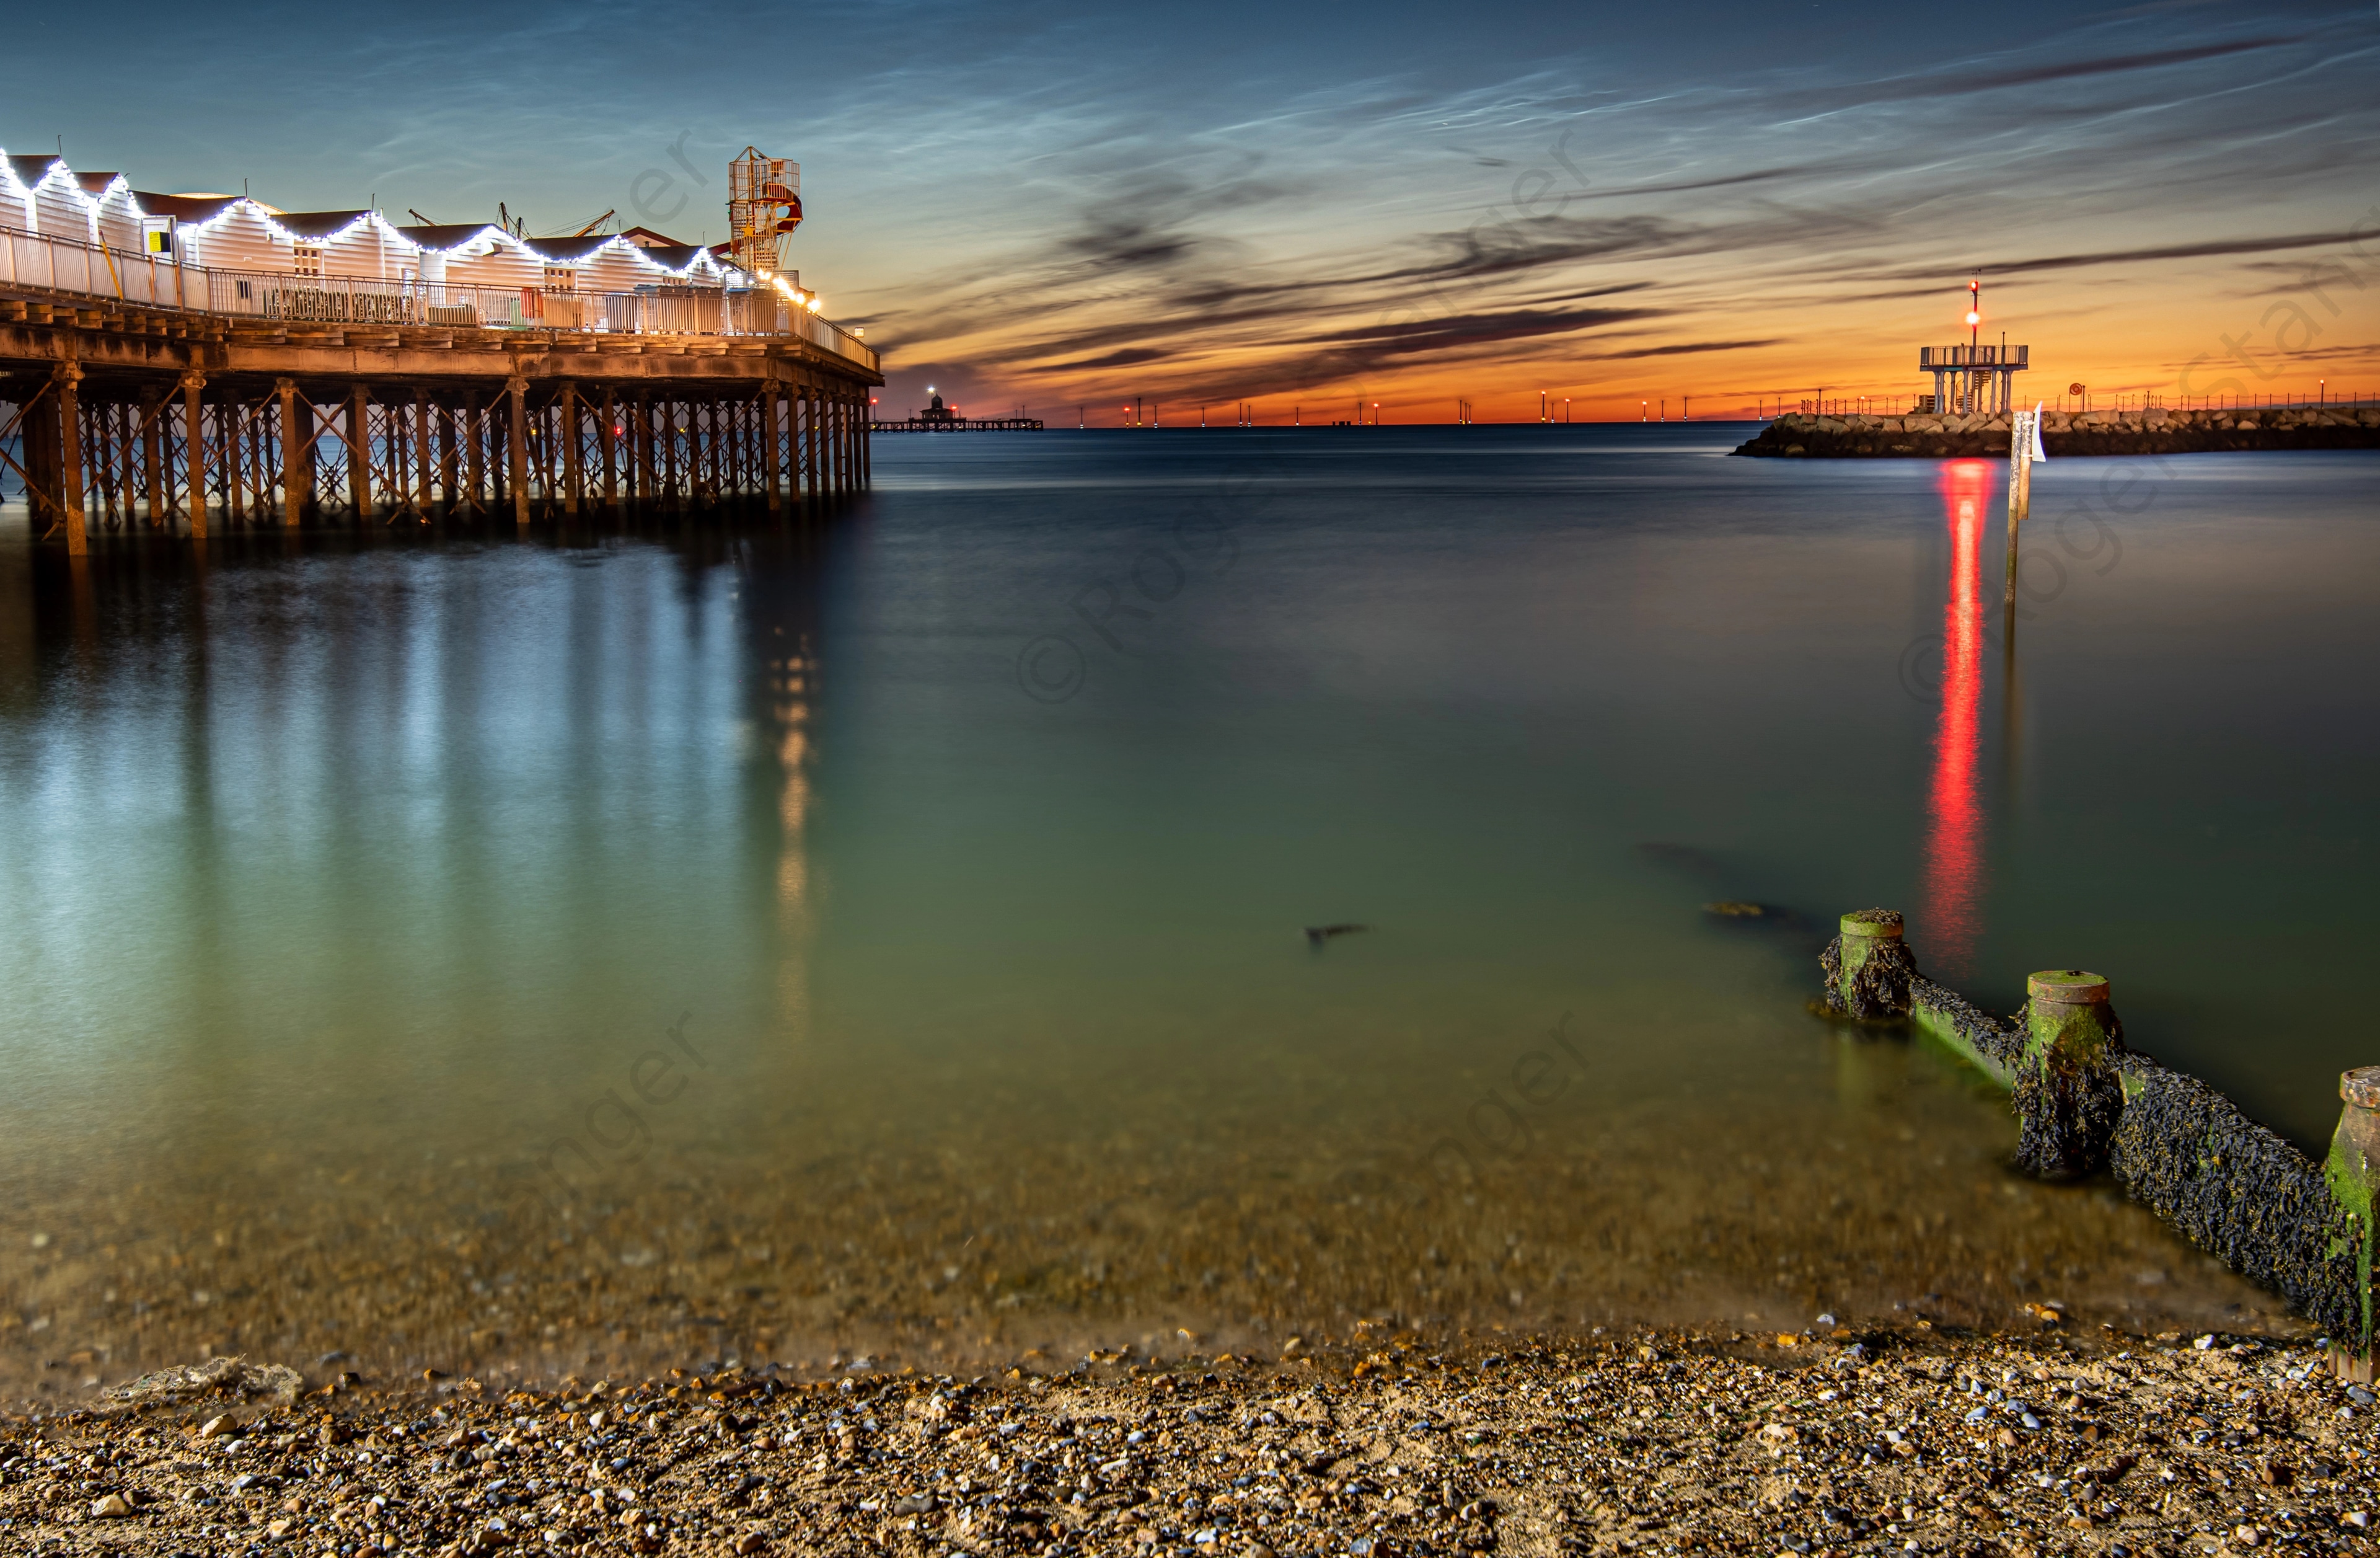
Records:
M635 372L547 379L540 360L512 362L509 374L497 360L476 393L421 372L355 379L369 372L357 362L271 374L114 357L100 388L86 391L86 367L50 357L12 381L29 379L26 388L10 388L24 405L17 465L40 524L64 531L76 553L88 550L93 519L100 529L188 519L193 538L226 517L305 529L333 512L378 519L388 507L426 522L440 500L447 519L481 510L483 498L497 512L507 484L516 524L538 503L552 517L605 507L626 517L647 498L678 512L750 505L781 517L788 500L843 500L871 481L864 388L807 362L771 357L740 384L647 391ZM338 379L324 384L326 374ZM533 381L543 386L536 405ZM490 393L497 384L502 400ZM345 474L324 460L345 460Z

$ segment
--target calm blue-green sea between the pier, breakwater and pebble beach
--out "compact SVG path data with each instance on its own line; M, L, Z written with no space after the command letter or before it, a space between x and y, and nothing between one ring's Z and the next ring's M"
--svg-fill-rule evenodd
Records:
M562 1370L2256 1303L1802 996L1909 908L2325 1132L2368 460L2180 462L2025 624L1997 781L1992 467L1461 434L912 441L826 531L10 536L0 1327ZM2309 1020L2235 1022L2292 958Z

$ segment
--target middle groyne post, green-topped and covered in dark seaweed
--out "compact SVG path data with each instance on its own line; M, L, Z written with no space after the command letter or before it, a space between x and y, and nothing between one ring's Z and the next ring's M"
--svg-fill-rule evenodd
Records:
M2016 1062L2016 1165L2042 1179L2106 1167L2123 1117L2123 1022L2106 979L2061 967L2025 979L2025 1053Z

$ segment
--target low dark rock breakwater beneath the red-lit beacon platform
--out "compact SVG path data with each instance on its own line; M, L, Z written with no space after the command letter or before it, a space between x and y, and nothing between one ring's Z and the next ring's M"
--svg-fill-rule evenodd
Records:
M2175 412L2044 412L2042 445L2061 455L2197 455L2211 450L2380 448L2380 407ZM1778 417L1737 455L1787 460L1956 460L2009 453L2009 417Z

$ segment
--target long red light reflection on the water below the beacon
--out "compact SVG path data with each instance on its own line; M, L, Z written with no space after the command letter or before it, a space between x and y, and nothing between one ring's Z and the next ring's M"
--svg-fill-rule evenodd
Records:
M1949 512L1949 600L1942 603L1942 715L1935 724L1925 793L1925 948L1947 972L1968 972L1983 898L1983 800L1975 793L1983 741L1983 526L1992 465L1942 467Z

